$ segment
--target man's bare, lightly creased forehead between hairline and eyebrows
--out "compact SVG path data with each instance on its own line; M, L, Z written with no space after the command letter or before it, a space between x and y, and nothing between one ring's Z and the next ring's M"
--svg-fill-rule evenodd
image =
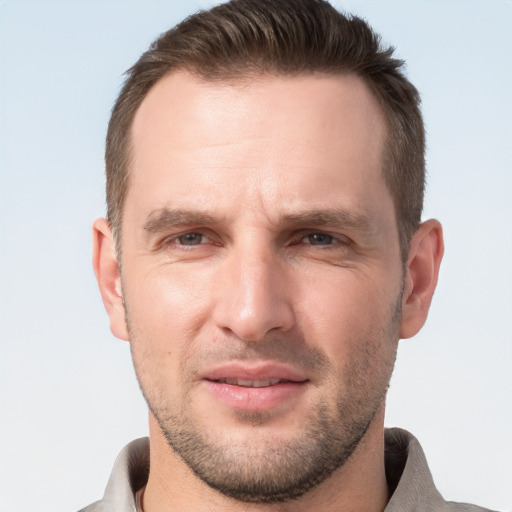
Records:
M174 72L136 113L128 199L142 192L154 209L175 201L208 208L229 191L226 205L246 208L293 213L332 198L354 209L383 192L385 132L381 107L353 75L221 83Z

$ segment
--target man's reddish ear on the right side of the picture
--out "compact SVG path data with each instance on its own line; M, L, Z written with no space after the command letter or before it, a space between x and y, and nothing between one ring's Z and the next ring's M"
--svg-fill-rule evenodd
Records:
M443 228L428 220L414 233L405 268L400 338L411 338L423 327L443 259Z

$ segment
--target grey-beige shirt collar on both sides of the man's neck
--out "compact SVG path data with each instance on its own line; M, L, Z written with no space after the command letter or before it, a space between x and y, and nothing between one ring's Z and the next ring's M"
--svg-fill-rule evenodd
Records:
M492 512L489 509L445 501L437 491L418 440L409 432L385 431L386 477L392 491L384 512ZM136 512L135 494L149 475L149 440L132 441L119 454L103 499L79 512Z

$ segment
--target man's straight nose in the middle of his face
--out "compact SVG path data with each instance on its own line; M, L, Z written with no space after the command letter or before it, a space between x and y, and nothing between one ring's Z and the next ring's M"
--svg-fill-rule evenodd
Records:
M217 327L243 341L261 340L270 331L295 324L292 288L285 263L270 247L254 244L233 250L217 275Z

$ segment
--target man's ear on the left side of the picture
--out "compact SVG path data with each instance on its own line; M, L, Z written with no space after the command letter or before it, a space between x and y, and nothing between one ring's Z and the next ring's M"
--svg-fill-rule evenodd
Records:
M110 330L117 338L128 340L121 273L116 258L114 237L106 219L94 222L92 244L92 265L103 304L110 318Z

